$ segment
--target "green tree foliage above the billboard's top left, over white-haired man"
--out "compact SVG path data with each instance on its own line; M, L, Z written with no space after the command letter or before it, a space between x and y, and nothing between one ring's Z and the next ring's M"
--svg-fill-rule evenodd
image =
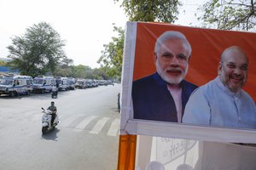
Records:
M119 2L119 0L114 0ZM178 0L123 0L121 7L125 9L131 21L157 21L172 23L177 20Z

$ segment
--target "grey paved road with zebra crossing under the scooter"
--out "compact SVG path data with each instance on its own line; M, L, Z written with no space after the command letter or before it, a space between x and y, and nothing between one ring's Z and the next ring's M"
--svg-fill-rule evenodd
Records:
M113 170L118 155L120 85L0 97L0 169ZM41 107L54 100L61 123L41 133Z

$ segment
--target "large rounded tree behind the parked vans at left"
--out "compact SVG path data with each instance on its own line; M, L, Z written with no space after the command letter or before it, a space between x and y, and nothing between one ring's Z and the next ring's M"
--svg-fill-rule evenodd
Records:
M26 29L22 37L12 38L9 49L10 65L20 69L23 75L36 77L50 71L55 72L61 59L66 58L65 46L60 34L46 22Z

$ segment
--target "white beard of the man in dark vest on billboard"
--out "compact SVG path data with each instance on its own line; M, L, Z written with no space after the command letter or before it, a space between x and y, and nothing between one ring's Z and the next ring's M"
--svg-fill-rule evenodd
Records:
M168 77L168 75L166 75L166 73L162 70L162 68L160 67L160 64L159 64L159 60L156 59L156 63L155 63L155 66L156 66L156 71L158 72L158 74L160 75L160 77L170 83L170 84L179 84L180 82L183 81L184 77L187 75L188 73L188 70L189 70L189 65L187 65L185 71L182 71L180 68L179 70L181 71L181 75L178 76L178 77Z

